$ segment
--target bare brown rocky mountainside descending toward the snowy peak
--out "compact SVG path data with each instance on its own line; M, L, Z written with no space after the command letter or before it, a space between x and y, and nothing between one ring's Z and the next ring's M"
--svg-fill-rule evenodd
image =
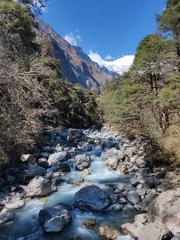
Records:
M53 46L55 57L60 61L64 80L80 84L85 88L101 88L117 75L93 62L80 47L71 46L52 27L42 21L39 30L48 37Z

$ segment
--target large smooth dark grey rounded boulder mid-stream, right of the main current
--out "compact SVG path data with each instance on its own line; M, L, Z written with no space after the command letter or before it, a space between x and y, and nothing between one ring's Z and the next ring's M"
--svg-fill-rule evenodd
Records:
M74 197L75 207L85 211L102 211L108 208L110 200L103 190L95 185L80 189Z

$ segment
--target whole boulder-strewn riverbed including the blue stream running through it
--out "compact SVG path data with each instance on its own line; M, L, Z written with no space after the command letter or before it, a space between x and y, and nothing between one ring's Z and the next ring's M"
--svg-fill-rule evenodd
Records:
M179 173L152 167L147 145L105 127L48 133L0 176L0 240L180 239Z

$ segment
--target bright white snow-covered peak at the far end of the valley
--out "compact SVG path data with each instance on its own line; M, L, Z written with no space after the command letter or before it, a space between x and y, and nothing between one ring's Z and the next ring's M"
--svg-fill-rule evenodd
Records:
M134 61L134 55L126 55L116 60L107 61L107 58L103 59L101 55L97 52L93 52L92 50L89 51L88 56L92 61L98 63L101 67L104 66L110 71L117 72L120 75L128 71Z

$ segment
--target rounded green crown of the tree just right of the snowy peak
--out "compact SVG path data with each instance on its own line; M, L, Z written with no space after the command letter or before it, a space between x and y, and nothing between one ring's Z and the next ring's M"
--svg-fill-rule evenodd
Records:
M139 79L149 85L151 93L156 95L166 64L164 56L170 51L170 46L170 42L160 36L149 35L137 49L133 69Z

